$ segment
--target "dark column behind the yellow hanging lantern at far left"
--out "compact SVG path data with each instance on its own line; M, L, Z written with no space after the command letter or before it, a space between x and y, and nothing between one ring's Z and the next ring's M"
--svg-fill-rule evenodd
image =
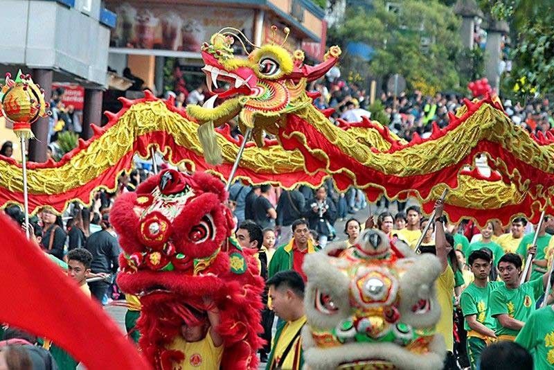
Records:
M44 89L44 101L50 102L52 95L52 80L54 72L51 69L33 69L33 81ZM42 117L31 125L31 130L37 139L29 140L29 161L46 162L46 146L48 146L48 121L50 117Z

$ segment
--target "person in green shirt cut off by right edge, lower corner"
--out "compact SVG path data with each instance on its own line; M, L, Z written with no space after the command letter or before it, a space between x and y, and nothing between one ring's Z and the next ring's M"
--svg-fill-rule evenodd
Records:
M550 278L554 286L554 274ZM540 308L528 318L515 342L533 355L535 370L554 368L554 305Z

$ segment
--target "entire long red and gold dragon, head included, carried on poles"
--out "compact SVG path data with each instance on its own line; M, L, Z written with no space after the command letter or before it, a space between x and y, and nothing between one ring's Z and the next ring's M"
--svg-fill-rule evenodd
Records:
M148 93L139 100L122 99L123 109L107 113L109 123L93 126L94 136L61 161L28 164L30 210L49 204L62 211L73 200L91 202L93 190L114 189L118 173L130 170L134 153L148 157L151 147L190 172L208 170L226 178L242 141L233 139L226 124L236 118L242 132L253 133L255 143L247 143L236 173L251 183L316 186L332 176L341 191L354 185L371 201L383 194L391 200L415 196L428 212L448 187L450 218L471 217L479 224L490 219L507 224L515 214L537 220L539 211L554 211L553 134L521 130L497 100L466 100L447 127L434 126L429 138L415 135L406 142L366 118L333 125L330 109L314 107L316 94L305 87L337 62L336 46L324 62L307 66L301 51L290 54L274 44L238 58L231 42L223 32L203 46L206 82L213 92L203 107L182 112L171 100ZM199 126L207 123L216 127L223 157L219 166L206 163L198 139ZM264 133L276 139L265 139ZM482 153L492 168L489 177L474 166L474 157ZM22 203L19 164L0 157L0 173L0 204Z

